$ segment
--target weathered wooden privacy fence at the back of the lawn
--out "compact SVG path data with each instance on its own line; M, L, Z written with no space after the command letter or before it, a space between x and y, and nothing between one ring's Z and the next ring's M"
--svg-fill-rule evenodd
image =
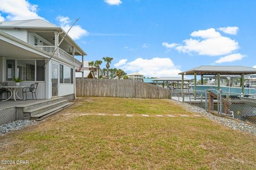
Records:
M138 80L76 79L76 96L170 99L171 90Z

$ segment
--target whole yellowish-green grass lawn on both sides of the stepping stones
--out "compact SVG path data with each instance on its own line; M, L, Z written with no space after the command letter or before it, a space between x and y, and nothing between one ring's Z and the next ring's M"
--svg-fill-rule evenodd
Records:
M92 115L84 115L92 113ZM98 116L95 113L121 114ZM0 169L256 169L256 137L167 100L79 98L46 121L0 137Z

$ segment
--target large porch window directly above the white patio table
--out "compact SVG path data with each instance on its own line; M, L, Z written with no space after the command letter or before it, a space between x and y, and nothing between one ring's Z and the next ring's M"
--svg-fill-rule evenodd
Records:
M35 81L35 60L17 60L17 75L24 81Z

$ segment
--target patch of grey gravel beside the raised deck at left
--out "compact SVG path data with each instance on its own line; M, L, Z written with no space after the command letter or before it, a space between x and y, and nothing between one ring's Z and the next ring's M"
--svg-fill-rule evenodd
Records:
M35 121L30 120L18 120L9 122L6 124L2 124L0 126L0 135L4 135L5 133L8 133L10 131L20 130L22 128L25 128L28 125L34 124Z

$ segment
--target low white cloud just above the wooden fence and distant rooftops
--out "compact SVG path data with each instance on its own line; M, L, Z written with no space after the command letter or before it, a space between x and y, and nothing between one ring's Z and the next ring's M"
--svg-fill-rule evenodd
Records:
M139 72L146 77L176 77L180 69L174 65L170 58L137 58L131 62L125 62L119 67L125 72Z

